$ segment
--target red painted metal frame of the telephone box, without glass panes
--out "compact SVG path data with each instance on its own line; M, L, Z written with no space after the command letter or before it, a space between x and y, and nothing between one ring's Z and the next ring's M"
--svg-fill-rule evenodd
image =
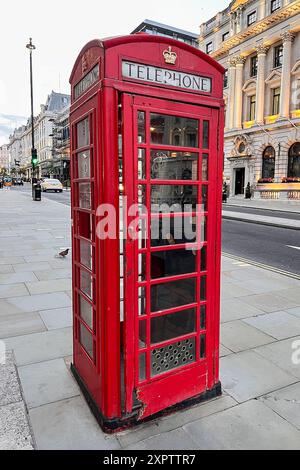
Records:
M149 83L133 82L123 80L121 76L122 60L130 59L136 62L147 63L158 67L166 67L163 61L162 52L166 46L171 45L178 54L178 64L176 70L188 73L210 76L213 80L212 93L201 94L191 93L174 87L160 87ZM84 67L83 67L84 57ZM88 88L77 100L74 98L74 86L91 70L95 64L100 64L99 81ZM172 68L172 66L167 66ZM222 187L222 162L223 162L223 99L222 83L223 68L209 56L201 51L187 46L178 41L154 37L148 35L126 36L123 38L113 38L104 41L92 41L87 44L78 56L70 78L72 86L71 105L71 179L72 179L72 238L73 238L73 295L74 295L74 368L82 380L90 400L93 401L104 421L122 420L133 411L133 392L135 392L144 406L139 418L156 413L162 407L168 407L176 400L184 400L187 397L195 396L201 391L212 389L219 380L219 291L220 291L220 234L221 234L221 187ZM137 96L138 95L138 96ZM137 109L145 109L147 115L147 125L149 129L149 110L156 109L166 114L176 114L182 116L193 116L196 119L208 119L211 121L211 142L210 150L199 149L192 151L209 154L210 176L209 181L204 183L209 188L207 242L204 244L207 249L207 259L209 267L207 272L201 276L207 276L207 304L210 305L211 314L207 315L207 332L209 341L207 342L207 357L202 360L199 366L189 365L182 369L172 371L162 377L150 379L140 383L138 380L138 349L137 349L137 242L127 242L126 244L126 266L124 274L125 283L125 319L123 329L120 325L120 264L119 264L119 240L99 240L95 235L95 230L99 217L96 209L101 203L112 204L117 212L119 210L119 168L118 168L118 105L122 103L123 108L123 159L124 159L124 181L126 195L129 200L135 200L136 187L138 183L134 175L137 175L136 161L136 117ZM93 155L94 174L90 181L93 187L93 207L87 211L78 207L78 179L75 172L77 137L76 123L89 116L90 128L93 141L86 148L90 149ZM200 136L199 128L199 137ZM218 146L216 142L218 141ZM139 148L144 148L149 154L150 143L139 144ZM169 146L152 145L151 148L169 149ZM82 150L82 149L81 149ZM174 149L175 150L175 149ZM191 151L190 148L178 148L176 151ZM149 155L148 155L149 158ZM201 160L201 159L200 159ZM200 162L201 163L201 162ZM201 164L199 164L199 172ZM200 173L199 173L200 177ZM150 183L151 181L147 181ZM144 181L145 183L145 181ZM155 180L155 185L172 184L170 181ZM175 183L175 182L173 182ZM176 184L198 185L197 181L176 181ZM150 201L150 184L147 193ZM201 192L198 191L198 201L201 202ZM92 240L93 249L93 302L80 291L78 271L88 269L80 264L79 241L84 239L79 233L82 219L79 214L90 214L93 219ZM196 216L193 212L191 216ZM166 217L163 214L153 217ZM172 215L176 217L178 214ZM117 217L117 220L119 218ZM131 219L128 219L130 223ZM117 227L119 230L119 227ZM200 226L198 223L200 232ZM150 226L148 224L148 235ZM148 242L149 244L150 242ZM184 245L185 246L185 245ZM176 245L174 249L184 248L183 245ZM197 244L191 244L196 247ZM140 253L150 256L150 246L141 250ZM172 247L168 248L172 249ZM166 247L151 247L152 252L166 250ZM141 283L148 290L150 299L151 285L168 282L173 279L197 279L197 301L189 306L178 307L164 312L150 312L149 302L147 318L160 316L162 314L172 314L190 307L203 304L200 302L200 255L198 255L198 265L196 275L188 274L176 276L176 278L164 278L150 280L148 263L148 282ZM94 328L93 331L80 318L78 295L81 295L89 304L93 304ZM205 302L204 302L205 303ZM132 312L134 306L134 312ZM133 314L134 313L134 314ZM197 333L199 329L199 315L197 315ZM93 335L94 360L92 360L79 341L79 325L83 324ZM205 330L206 331L206 330ZM190 338L194 334L184 336ZM148 348L150 347L150 321L148 320ZM164 342L169 344L172 341ZM124 353L124 392L122 398L122 374L121 374L121 348ZM199 348L197 347L197 351ZM149 354L148 354L149 356ZM150 361L148 357L148 371L150 371ZM173 392L173 393L172 393ZM163 399L159 400L158 397ZM157 399L155 399L157 397ZM176 397L176 399L174 398ZM162 401L159 405L155 403Z

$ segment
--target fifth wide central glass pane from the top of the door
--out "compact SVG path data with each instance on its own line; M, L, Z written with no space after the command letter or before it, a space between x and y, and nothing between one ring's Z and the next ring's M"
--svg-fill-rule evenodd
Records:
M191 250L159 251L151 254L151 277L177 276L196 272L196 260Z

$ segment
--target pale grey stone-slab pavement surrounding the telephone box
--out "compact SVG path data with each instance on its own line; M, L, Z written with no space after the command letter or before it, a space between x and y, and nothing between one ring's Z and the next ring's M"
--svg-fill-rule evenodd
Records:
M299 280L224 257L223 396L106 436L69 370L69 246L69 207L0 192L0 449L300 449Z

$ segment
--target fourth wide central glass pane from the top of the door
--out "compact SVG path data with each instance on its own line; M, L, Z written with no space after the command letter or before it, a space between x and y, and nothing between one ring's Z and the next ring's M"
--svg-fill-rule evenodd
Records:
M152 218L151 246L194 243L196 236L196 217Z

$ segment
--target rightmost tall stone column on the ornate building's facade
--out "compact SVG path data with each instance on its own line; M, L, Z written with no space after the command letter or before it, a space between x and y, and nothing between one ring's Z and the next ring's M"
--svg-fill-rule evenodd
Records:
M281 72L281 90L280 90L280 117L290 117L290 99L291 99L291 55L292 42L295 38L289 31L281 35L283 43L283 62Z

